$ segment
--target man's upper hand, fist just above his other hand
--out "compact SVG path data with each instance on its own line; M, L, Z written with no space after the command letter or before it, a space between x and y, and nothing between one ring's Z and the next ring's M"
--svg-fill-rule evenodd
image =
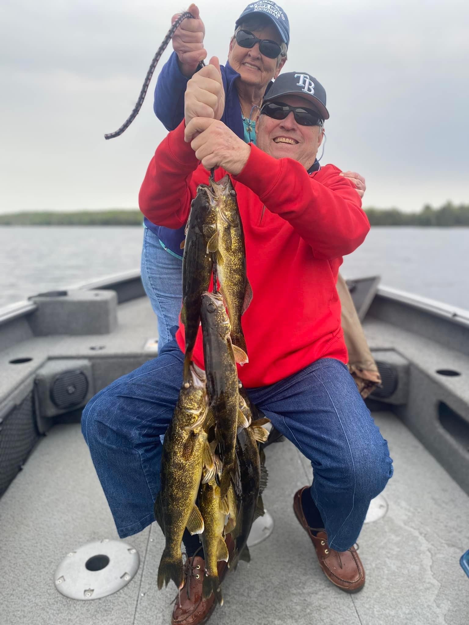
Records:
M186 121L186 141L193 136L187 134L187 127L193 118L220 119L224 111L224 89L220 66L216 56L210 64L200 69L189 80L184 94L184 119Z

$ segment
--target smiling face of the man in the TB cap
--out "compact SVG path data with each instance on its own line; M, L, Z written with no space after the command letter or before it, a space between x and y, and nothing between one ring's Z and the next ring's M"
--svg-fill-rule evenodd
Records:
M289 106L305 106L316 111L314 104L299 96L282 96L280 100ZM315 162L322 140L320 126L297 124L293 112L285 119L273 119L264 114L256 123L258 148L274 158L293 158L306 169Z

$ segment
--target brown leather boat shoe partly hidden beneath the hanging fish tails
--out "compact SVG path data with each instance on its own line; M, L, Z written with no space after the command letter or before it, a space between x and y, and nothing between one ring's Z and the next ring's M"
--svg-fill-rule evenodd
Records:
M226 535L226 546L231 557L235 541ZM221 582L228 571L227 562L218 562L218 579ZM199 625L207 622L216 606L215 595L202 596L205 561L200 556L189 557L184 564L184 586L176 596L171 625Z

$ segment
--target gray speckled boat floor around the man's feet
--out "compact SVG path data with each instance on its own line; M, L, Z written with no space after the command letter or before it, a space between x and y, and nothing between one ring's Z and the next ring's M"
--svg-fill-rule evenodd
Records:
M251 548L223 583L224 606L211 623L466 625L469 579L459 558L469 548L469 497L391 413L375 419L390 444L395 474L383 496L388 513L358 540L366 585L341 592L321 572L295 519L292 497L311 467L290 442L266 450L271 536ZM103 599L59 594L54 571L86 542L117 538L78 424L55 426L0 500L0 623L8 625L168 624L174 586L156 588L163 537L156 524L126 542L141 562L134 579Z

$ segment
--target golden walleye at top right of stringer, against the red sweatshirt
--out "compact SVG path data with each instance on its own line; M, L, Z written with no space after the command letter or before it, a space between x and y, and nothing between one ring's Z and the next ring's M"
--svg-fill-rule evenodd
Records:
M218 183L211 183L216 202L216 232L209 241L208 251L214 252L218 262L218 279L231 324L231 342L236 362L248 362L241 315L253 299L253 291L246 276L246 247L236 191L228 174Z

